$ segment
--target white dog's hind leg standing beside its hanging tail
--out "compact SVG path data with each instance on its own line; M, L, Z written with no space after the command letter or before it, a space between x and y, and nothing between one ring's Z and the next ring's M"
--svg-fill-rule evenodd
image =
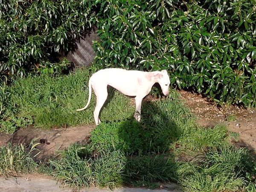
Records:
M108 97L108 90L107 90L107 85L106 86L99 86L99 87L93 87L93 90L96 94L97 102L96 102L96 107L93 112L94 120L96 125L99 125L101 122L99 119L99 112L104 105L107 97Z

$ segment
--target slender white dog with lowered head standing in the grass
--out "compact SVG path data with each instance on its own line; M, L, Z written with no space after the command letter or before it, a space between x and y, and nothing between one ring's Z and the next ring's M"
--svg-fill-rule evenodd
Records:
M169 94L170 78L166 70L154 72L123 70L117 68L99 70L90 77L89 99L87 104L84 108L77 109L76 111L82 111L88 107L93 88L97 98L96 108L93 115L96 125L99 125L101 122L99 119L99 112L107 99L107 86L110 85L125 95L135 96L136 111L134 117L137 121L140 121L142 99L148 95L155 83L160 84L165 96Z

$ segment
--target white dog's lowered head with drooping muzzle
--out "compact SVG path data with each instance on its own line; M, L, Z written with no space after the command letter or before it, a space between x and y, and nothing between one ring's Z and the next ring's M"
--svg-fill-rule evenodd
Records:
M156 71L154 74L154 78L157 83L160 84L160 87L165 96L169 95L169 85L170 85L170 77L166 70Z

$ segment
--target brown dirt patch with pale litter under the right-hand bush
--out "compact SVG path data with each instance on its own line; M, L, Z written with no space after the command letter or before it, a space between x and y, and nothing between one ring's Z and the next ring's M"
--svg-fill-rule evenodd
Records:
M209 102L207 98L200 94L179 91L181 98L198 118L199 125L213 127L224 123L230 131L239 133L239 141L236 142L241 147L247 147L256 152L256 110L239 108L236 105L218 107ZM230 116L235 117L229 122Z

